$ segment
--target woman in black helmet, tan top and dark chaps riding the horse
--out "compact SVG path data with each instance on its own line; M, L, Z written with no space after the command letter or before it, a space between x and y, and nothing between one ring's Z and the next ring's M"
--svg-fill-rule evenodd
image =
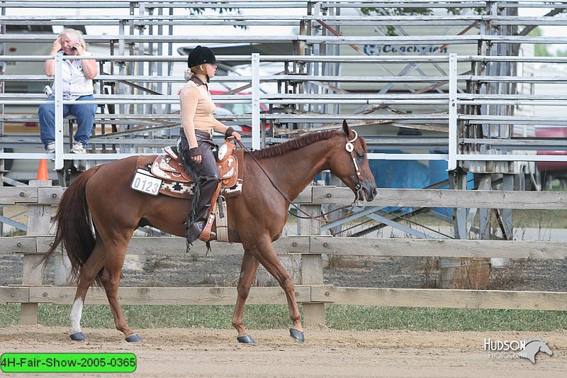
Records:
M181 94L181 129L178 148L186 172L191 175L195 187L191 211L186 223L187 243L193 243L205 228L210 201L215 194L219 179L213 150L213 131L222 133L225 138L240 140L240 134L233 128L223 125L213 116L215 104L210 99L207 83L215 76L217 68L215 54L210 48L197 46L189 53L185 79Z

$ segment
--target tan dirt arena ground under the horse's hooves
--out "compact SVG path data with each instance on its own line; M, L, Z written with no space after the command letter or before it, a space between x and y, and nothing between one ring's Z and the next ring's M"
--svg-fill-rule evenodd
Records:
M287 330L251 330L257 344L237 343L234 330L138 330L143 343L128 344L116 330L84 329L74 343L67 328L0 328L0 352L133 352L136 377L565 377L567 331L410 332L307 330L301 345ZM554 352L537 361L489 357L485 338L539 336ZM14 374L15 375L15 374ZM43 374L53 377L53 374ZM122 374L126 376L127 374ZM40 374L18 374L35 376ZM96 377L97 374L88 374ZM115 377L116 374L99 374Z

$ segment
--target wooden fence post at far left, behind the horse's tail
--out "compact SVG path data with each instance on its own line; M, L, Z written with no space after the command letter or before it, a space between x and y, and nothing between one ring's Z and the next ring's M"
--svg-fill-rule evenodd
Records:
M30 187L50 187L51 180L32 180ZM28 236L47 235L51 224L51 205L28 205ZM23 255L23 285L43 284L42 267L35 265L43 255ZM30 326L38 323L38 304L21 304L20 323Z

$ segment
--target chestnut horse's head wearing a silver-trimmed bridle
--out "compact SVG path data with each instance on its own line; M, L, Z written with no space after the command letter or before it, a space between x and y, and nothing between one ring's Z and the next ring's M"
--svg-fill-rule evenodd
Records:
M347 121L342 122L342 131L344 142L337 145L329 169L357 194L357 199L372 201L376 195L376 181L368 165L366 142L349 128Z

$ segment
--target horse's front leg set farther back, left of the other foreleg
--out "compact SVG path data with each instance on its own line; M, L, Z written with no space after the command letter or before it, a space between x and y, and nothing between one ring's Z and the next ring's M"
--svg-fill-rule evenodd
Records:
M244 308L252 281L256 275L259 262L247 250L242 257L242 266L240 267L240 278L238 279L235 313L232 316L232 326L238 331L237 340L239 343L254 344L254 339L247 333L244 326Z

